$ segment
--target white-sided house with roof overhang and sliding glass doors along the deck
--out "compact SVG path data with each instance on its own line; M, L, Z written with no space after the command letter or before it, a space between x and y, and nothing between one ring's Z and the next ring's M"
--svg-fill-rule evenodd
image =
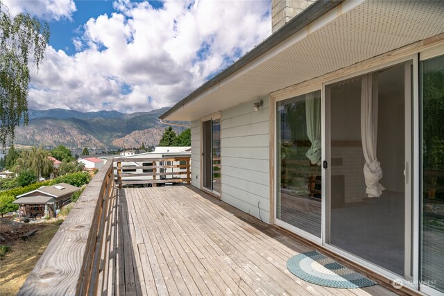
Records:
M438 295L443 94L442 1L316 1L160 118L193 186Z

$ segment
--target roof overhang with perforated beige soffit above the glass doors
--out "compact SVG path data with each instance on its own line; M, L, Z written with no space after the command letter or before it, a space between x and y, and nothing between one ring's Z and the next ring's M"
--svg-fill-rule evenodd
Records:
M441 1L316 1L160 116L194 121L444 32Z

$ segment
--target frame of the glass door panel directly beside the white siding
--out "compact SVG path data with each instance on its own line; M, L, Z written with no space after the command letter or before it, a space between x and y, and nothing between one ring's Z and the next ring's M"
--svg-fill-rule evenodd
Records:
M275 150L275 153L273 153L274 164L278 164L278 152L277 152L278 151L278 147L277 147L277 145L278 145L278 132L277 132L278 123L277 123L277 118L276 118L277 117L276 116L277 103L280 101L287 100L288 98L293 98L295 96L301 96L303 94L308 94L310 92L316 92L318 90L321 90L321 112L323 112L323 110L322 110L322 101L323 101L322 96L323 96L323 94L322 94L321 83L318 83L316 85L311 85L309 87L302 87L302 88L298 89L296 92L289 92L287 94L282 94L280 96L273 97L273 108L271 108L272 109L271 112L273 112L273 114L272 114L271 118L274 119L273 120L273 134L274 134L274 137L273 137L273 146L274 147L273 148ZM323 125L324 125L324 114L321 113L321 137L323 137L323 133L322 133ZM324 141L324 139L322 139L322 141ZM323 147L324 146L322 146L322 149L323 149ZM322 151L322 153L323 153L323 151ZM324 159L324 158L322 158L322 159ZM277 166L274 166L274 167L275 167L275 171L273 172L273 183L276 185L276 184L278 184L278 171L276 170ZM324 170L321 170L321 172L322 172L322 178L323 178L324 177L324 175L323 175ZM322 186L323 185L324 184L322 184ZM286 223L283 220L279 220L277 218L278 217L278 213L277 213L277 211L278 211L278 190L279 190L278 186L274 186L274 190L273 190L273 195L274 195L273 196L273 211L274 212L273 212L273 215L275 217L275 219L274 219L275 225L278 225L284 229L288 229L289 231L294 232L298 236L301 236L302 238L306 238L309 241L312 241L318 245L322 245L322 234L323 234L323 227L324 227L323 214L321 214L321 238L318 238L314 234L310 234L309 232L306 232L305 230L299 229L296 226ZM325 203L325 195L324 195L323 191L324 190L322 190L322 195L321 195L321 208L322 208L321 213L323 211L323 204Z

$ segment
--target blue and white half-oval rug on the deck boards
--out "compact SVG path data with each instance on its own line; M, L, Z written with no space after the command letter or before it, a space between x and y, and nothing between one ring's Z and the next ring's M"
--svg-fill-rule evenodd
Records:
M311 284L331 288L363 288L376 283L317 251L298 254L287 261L293 275Z

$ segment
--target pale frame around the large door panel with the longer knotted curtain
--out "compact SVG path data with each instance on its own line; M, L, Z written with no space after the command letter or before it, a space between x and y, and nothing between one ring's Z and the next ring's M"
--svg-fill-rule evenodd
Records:
M388 271L384 268L381 268L373 263L370 263L369 261L366 261L364 259L359 258L358 256L355 256L354 254L351 254L350 252L345 252L344 250L339 249L338 247L335 247L334 245L330 245L327 243L330 238L330 204L331 204L331 148L330 148L330 128L327 129L327 123L330 123L330 101L327 101L327 91L328 85L331 85L335 82L340 82L342 80L354 78L357 76L364 75L366 73L372 73L375 71L378 71L380 69L384 69L387 67L394 66L396 64L400 64L402 62L408 62L412 61L413 63L413 102L411 105L411 111L409 115L409 118L407 118L407 114L405 117L404 124L407 124L410 121L411 124L411 163L412 165L409 168L409 179L411 184L410 189L410 200L413 206L413 210L410 207L406 207L406 214L407 211L409 211L410 219L404 220L406 223L405 231L407 232L407 225L411 225L409 228L411 230L411 273L412 277L406 277L406 279L401 279L400 275L395 274L394 272ZM341 256L349 259L350 261L354 261L358 263L359 265L363 265L366 268L369 268L371 270L375 270L376 272L384 275L385 277L391 278L391 279L397 279L402 281L402 284L404 286L409 286L409 288L413 288L415 290L418 290L418 271L419 271L419 118L418 118L418 110L419 110L419 92L418 92L418 55L408 55L404 58L400 58L397 60L391 60L390 62L386 62L384 64L378 64L375 67L369 67L367 69L356 71L354 73L349 73L348 75L341 76L340 78L336 78L334 80L327 80L323 82L322 85L322 96L321 96L321 108L322 108L322 118L323 118L323 125L322 125L322 157L323 160L327 160L328 167L327 169L323 168L323 175L322 175L322 186L323 186L323 232L322 232L322 245L327 248L328 250L331 250L333 252L336 252L337 254L340 254ZM407 107L406 110L409 108ZM407 111L406 111L407 112ZM327 147L328 145L328 147ZM406 153L407 153L406 148ZM406 195L407 195L406 191ZM408 209L407 209L408 208ZM407 233L406 233L407 234ZM407 251L407 249L406 249Z

